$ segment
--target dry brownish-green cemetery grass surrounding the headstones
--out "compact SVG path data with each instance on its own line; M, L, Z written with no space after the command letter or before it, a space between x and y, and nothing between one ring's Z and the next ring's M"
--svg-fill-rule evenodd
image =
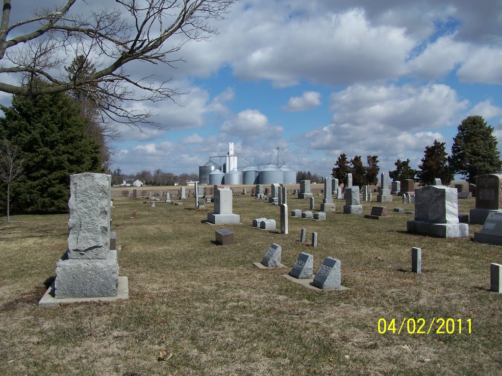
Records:
M335 199L326 221L289 217L288 235L251 226L259 217L279 224L279 207L249 195L233 197L242 224L224 226L203 223L212 203L196 211L192 198L156 208L113 198L127 301L39 307L67 248L68 215L0 223L0 374L502 373L502 295L488 291L502 248L408 234L413 215L392 211L413 210L401 198L387 203L389 218L380 221L343 214L344 201ZM314 198L319 209L322 197ZM369 214L381 204L361 205ZM288 195L290 212L308 207ZM474 199L459 200L459 213L473 207ZM235 233L235 244L214 244L221 228ZM470 237L480 229L470 225ZM312 232L317 248L307 244ZM288 268L253 267L272 243ZM422 249L422 274L411 273L412 247ZM300 252L314 255L314 272L326 256L341 260L349 290L319 292L281 277ZM417 334L433 318L453 319L453 332L448 320L448 328L436 321Z

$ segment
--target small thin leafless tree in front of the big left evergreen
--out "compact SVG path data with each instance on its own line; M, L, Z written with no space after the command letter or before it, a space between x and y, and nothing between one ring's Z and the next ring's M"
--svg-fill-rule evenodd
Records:
M11 145L6 138L2 138L0 141L0 181L7 184L7 222L11 221L11 183L23 176L23 159L20 154L17 146Z

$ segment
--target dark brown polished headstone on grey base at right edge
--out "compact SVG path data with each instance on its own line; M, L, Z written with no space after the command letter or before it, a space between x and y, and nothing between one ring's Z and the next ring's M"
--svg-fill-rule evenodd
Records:
M476 177L476 207L469 211L469 221L482 225L489 212L502 213L502 174L490 173Z

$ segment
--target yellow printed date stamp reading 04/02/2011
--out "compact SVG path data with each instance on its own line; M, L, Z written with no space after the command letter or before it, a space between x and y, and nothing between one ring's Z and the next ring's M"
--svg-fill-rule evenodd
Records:
M378 320L378 332L380 334L471 334L472 320L470 318L442 318L433 317L430 321L425 318L403 317L397 321L395 318Z

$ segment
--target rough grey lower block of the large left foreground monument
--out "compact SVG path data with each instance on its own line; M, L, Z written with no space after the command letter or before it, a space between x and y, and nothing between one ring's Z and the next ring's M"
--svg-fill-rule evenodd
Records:
M94 298L116 296L118 285L117 251L105 260L66 259L56 263L55 297Z

